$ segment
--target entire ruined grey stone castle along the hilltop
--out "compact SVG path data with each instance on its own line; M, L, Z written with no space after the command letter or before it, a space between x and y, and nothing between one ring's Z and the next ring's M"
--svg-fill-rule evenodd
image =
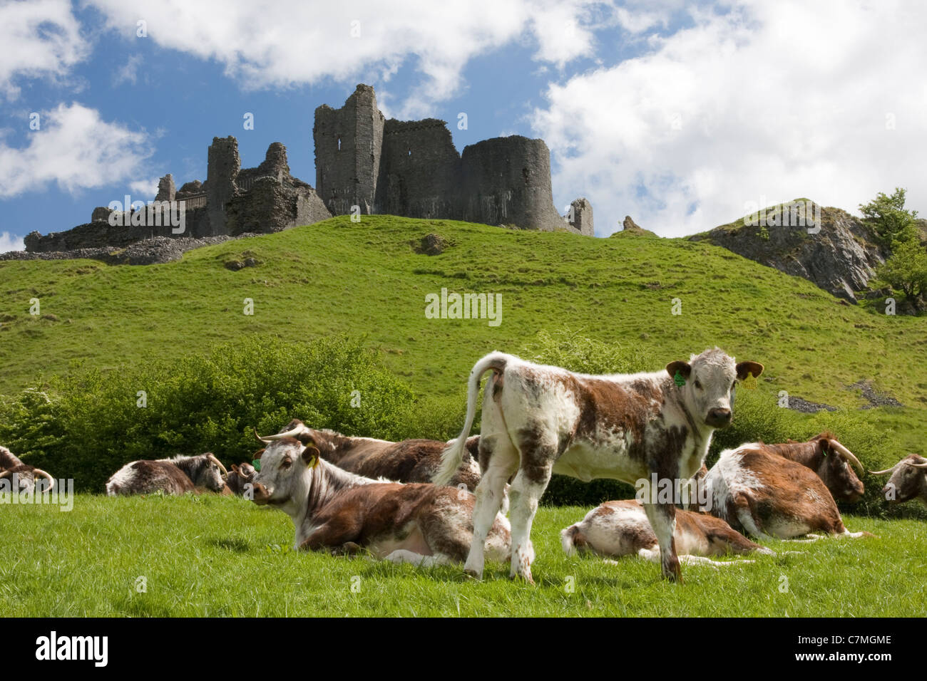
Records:
M4 259L85 258L133 246L131 261L163 262L187 249L165 249L165 238L193 246L352 213L594 234L585 198L575 200L565 217L553 207L551 158L543 140L496 137L458 154L445 121L386 120L374 88L363 84L343 107L318 107L312 132L315 189L290 174L286 146L279 142L268 147L259 166L242 169L235 137L213 137L205 183L194 180L177 189L173 176L165 175L154 205L127 213L94 208L90 222L65 232L32 232L24 239L25 252ZM180 201L183 231L178 205L171 203Z

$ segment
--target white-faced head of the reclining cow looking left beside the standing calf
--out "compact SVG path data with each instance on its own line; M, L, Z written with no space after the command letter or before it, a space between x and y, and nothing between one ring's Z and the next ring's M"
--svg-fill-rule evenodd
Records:
M261 439L268 444L260 455L260 471L254 476L251 500L259 506L285 507L305 499L311 487L309 473L319 462L319 450L312 444L312 436L300 433L296 437L271 435Z

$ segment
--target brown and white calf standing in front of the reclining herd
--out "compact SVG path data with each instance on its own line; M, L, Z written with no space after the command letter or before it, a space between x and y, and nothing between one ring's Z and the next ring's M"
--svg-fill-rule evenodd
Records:
M483 542L510 490L512 575L531 579L531 523L552 473L580 480L615 478L688 480L702 466L716 428L730 424L738 380L758 376L763 366L736 363L717 347L674 361L652 373L594 376L533 364L493 352L470 372L466 422L444 452L435 478L446 483L464 459L464 442L476 414L482 375L492 372L483 397L474 538L465 569L483 573ZM659 498L644 505L662 556L662 574L680 579L673 546L676 507Z

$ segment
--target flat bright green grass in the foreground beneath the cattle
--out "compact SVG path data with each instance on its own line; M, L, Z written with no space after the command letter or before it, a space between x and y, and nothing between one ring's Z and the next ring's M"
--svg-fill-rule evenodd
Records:
M683 566L684 584L635 558L567 558L560 529L587 511L541 507L537 586L489 563L461 569L293 551L280 511L240 498L79 495L73 511L0 510L0 601L6 616L763 616L927 615L921 521L846 516L879 538L770 544L801 555L758 556L719 570ZM144 577L146 591L136 591Z

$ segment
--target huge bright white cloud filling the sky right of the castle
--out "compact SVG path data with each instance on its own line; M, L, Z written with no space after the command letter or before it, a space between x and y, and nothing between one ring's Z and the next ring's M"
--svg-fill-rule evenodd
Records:
M629 214L665 236L764 198L855 210L897 185L927 210L927 6L739 2L692 19L641 57L550 85L532 126L561 203L587 195L600 234Z

